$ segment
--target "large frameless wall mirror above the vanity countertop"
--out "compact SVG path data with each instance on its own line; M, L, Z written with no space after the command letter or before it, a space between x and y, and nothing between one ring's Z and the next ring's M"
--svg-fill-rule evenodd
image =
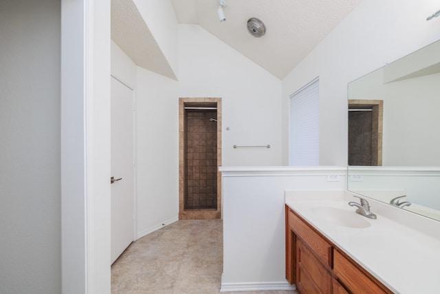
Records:
M349 191L440 220L440 41L348 93Z

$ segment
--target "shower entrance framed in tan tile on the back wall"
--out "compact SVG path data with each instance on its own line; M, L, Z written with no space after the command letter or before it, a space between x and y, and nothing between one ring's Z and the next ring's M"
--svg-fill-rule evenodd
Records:
M221 218L221 98L179 98L179 219Z

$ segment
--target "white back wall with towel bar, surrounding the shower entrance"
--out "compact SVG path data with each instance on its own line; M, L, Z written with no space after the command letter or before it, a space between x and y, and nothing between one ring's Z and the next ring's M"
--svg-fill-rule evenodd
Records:
M222 98L223 166L281 165L281 81L199 25L179 25L179 97Z

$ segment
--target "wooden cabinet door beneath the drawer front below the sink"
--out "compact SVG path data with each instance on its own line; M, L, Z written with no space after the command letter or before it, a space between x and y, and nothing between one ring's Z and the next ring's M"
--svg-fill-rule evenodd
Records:
M300 238L296 239L296 286L300 293L331 293L331 274Z

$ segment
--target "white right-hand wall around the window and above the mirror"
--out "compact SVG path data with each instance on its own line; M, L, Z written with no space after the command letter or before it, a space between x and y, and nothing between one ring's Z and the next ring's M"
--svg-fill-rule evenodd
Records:
M440 39L436 1L362 1L283 80L283 163L288 96L320 76L320 165L347 164L347 83Z

